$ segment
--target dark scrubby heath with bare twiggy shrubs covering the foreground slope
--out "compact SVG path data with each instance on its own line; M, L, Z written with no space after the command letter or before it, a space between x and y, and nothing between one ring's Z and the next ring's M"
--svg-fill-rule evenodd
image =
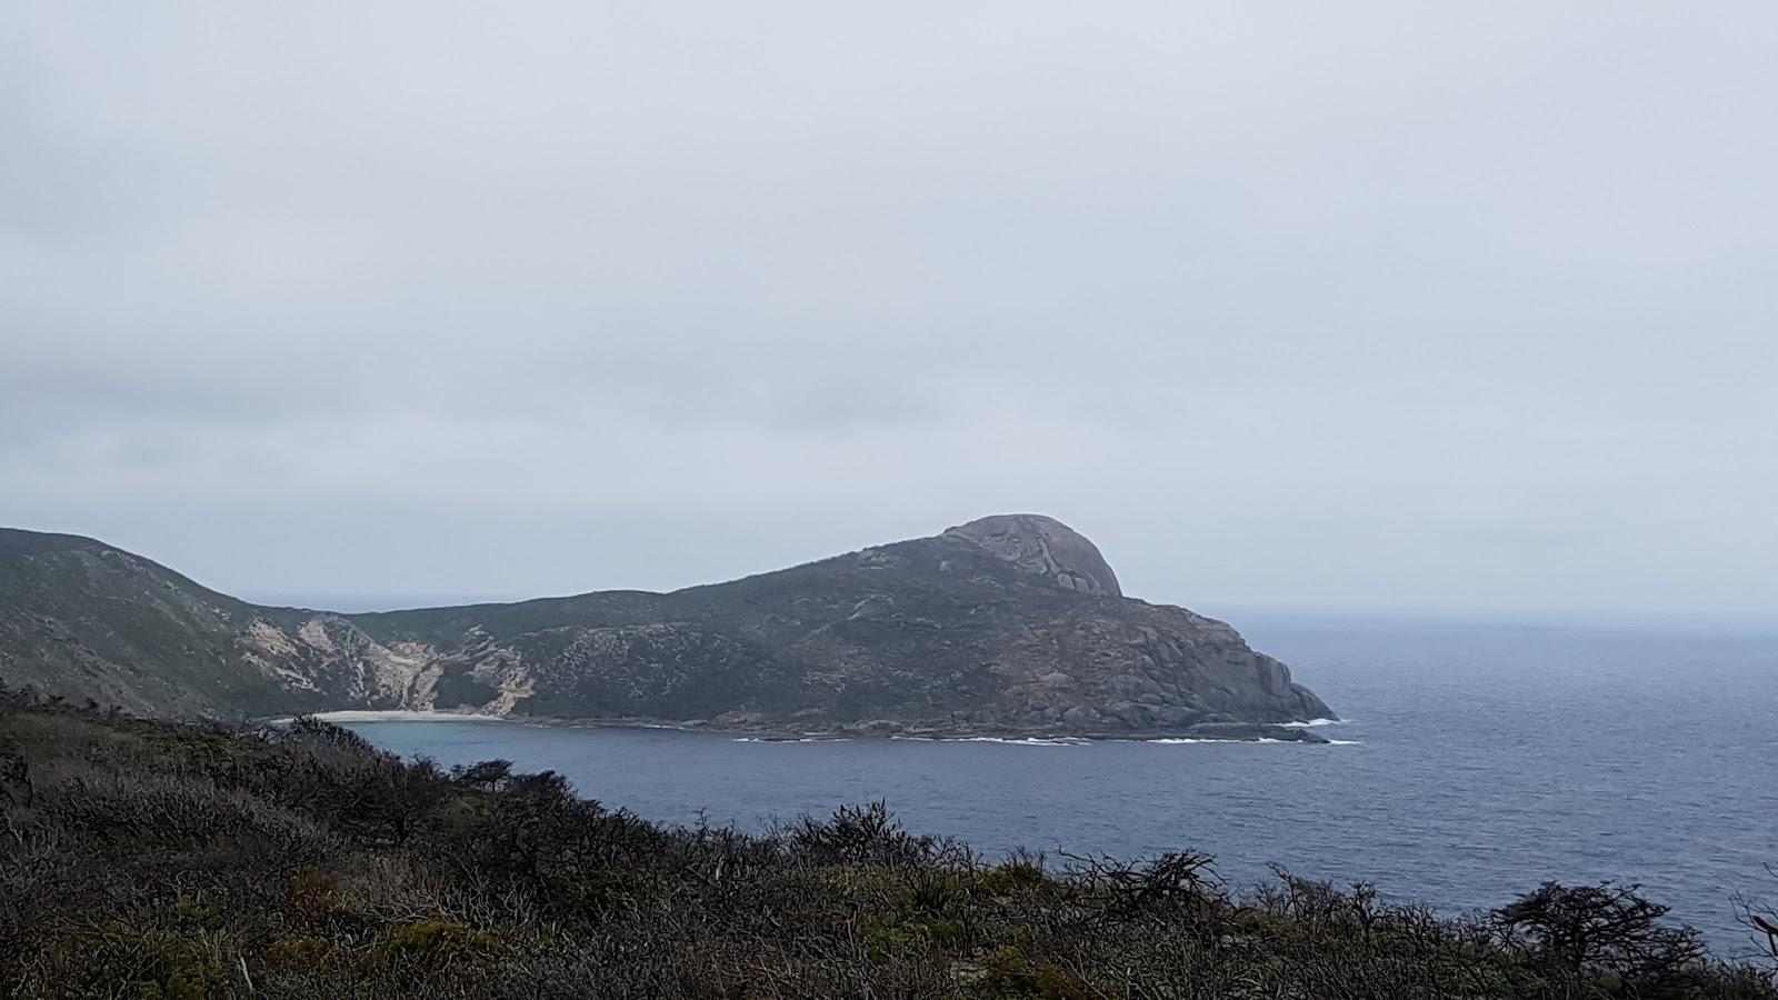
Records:
M1478 918L1209 856L989 861L841 808L669 829L509 762L304 719L229 733L0 696L18 996L1778 998L1634 886Z

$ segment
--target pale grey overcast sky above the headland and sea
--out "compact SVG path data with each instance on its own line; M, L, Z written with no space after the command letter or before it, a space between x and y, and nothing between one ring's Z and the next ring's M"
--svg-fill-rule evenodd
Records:
M7 4L0 523L1778 621L1778 5Z

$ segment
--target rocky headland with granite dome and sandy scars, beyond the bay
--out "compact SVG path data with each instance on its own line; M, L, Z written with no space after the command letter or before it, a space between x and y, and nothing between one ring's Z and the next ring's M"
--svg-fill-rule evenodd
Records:
M1037 514L674 593L332 614L78 536L0 530L0 683L158 715L462 710L820 733L1314 740L1221 621L1122 594Z

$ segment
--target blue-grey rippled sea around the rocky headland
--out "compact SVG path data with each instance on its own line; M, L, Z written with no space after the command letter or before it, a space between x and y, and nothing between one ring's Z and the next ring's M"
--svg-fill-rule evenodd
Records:
M1646 886L1725 954L1778 902L1778 639L1237 623L1348 722L1339 746L740 742L510 722L352 722L441 763L509 758L644 817L761 829L885 799L912 829L1117 856L1277 861L1460 913L1543 879ZM1350 742L1346 742L1350 740Z

